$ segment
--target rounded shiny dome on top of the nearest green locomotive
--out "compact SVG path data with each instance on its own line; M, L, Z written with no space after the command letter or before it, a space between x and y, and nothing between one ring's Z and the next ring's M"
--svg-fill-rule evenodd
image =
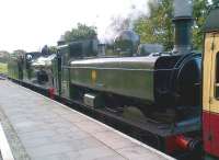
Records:
M140 43L140 36L134 31L122 31L115 38L115 49L123 56L132 56Z

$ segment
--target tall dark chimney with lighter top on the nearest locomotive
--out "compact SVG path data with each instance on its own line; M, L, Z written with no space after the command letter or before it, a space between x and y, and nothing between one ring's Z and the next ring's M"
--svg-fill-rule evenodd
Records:
M193 0L174 0L175 44L173 52L189 54L192 49Z

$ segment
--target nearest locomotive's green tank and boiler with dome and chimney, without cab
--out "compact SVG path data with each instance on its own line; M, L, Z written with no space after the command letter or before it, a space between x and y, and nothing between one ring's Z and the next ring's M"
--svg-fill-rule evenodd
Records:
M139 36L124 31L115 39L117 57L70 61L72 98L92 107L137 106L147 117L169 123L198 117L201 55L192 52L192 5L175 1L173 22L173 52L142 56Z

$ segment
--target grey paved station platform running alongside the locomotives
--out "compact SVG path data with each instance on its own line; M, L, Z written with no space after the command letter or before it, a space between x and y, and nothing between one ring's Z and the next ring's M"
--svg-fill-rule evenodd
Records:
M18 160L173 160L8 80L0 80L0 119Z

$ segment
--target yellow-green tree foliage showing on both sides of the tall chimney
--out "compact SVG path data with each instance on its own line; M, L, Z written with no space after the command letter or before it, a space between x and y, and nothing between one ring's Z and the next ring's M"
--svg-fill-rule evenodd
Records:
M135 21L134 30L141 36L141 43L163 44L165 49L172 49L174 43L173 0L150 0L150 15ZM193 47L201 49L201 27L207 14L208 0L194 0Z

